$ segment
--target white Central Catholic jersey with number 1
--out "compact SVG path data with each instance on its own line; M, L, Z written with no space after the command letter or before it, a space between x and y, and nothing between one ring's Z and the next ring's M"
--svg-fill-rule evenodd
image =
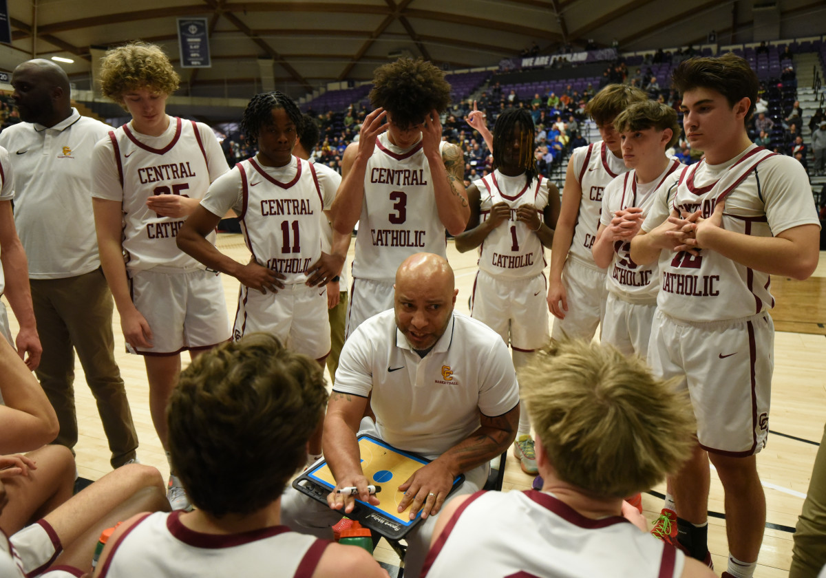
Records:
M482 221L491 215L491 206L505 202L510 217L482 241L479 246L479 268L503 279L536 277L545 267L545 254L539 236L524 222L516 220L516 210L533 205L543 219L548 205L548 179L541 175L526 183L525 175L507 177L497 169L474 182L482 196L479 216Z

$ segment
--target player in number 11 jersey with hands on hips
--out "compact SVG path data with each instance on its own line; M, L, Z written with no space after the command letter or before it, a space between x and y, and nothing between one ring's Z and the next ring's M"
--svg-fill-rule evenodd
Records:
M241 127L259 152L212 184L178 233L178 246L241 282L233 339L265 331L323 366L330 353L325 285L341 272L346 254L321 251L324 211L335 190L320 187L313 165L292 154L302 121L296 104L281 92L257 94L249 101ZM252 253L246 264L207 241L230 209ZM333 247L340 245L334 237ZM323 422L310 439L313 460L321 454Z

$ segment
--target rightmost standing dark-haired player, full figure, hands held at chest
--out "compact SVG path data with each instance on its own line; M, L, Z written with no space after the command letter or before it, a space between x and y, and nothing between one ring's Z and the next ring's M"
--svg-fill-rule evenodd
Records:
M800 163L748 138L759 83L745 60L688 59L673 79L686 138L705 159L681 172L670 215L652 210L631 242L634 263L658 258L662 275L648 362L657 375L680 379L697 417L695 452L672 478L678 535L671 539L710 561L710 459L725 493L724 576L748 578L766 522L756 454L769 429L769 275L811 275L819 220Z

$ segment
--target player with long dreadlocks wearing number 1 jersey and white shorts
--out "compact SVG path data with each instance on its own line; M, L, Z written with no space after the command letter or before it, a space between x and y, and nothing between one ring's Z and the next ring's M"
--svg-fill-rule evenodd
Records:
M544 247L553 243L559 189L537 173L534 121L529 111L503 112L493 127L493 173L468 187L470 220L456 237L464 253L479 247L471 316L510 343L514 367L544 347L548 334ZM514 455L522 470L538 473L534 439L525 408L520 411Z

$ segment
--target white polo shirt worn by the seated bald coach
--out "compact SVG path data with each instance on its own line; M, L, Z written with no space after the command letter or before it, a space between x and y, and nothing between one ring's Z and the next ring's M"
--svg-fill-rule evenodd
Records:
M479 412L506 414L519 403L502 338L453 311L424 358L396 327L394 310L358 325L341 350L334 391L367 397L379 436L396 448L438 457L479 426Z

